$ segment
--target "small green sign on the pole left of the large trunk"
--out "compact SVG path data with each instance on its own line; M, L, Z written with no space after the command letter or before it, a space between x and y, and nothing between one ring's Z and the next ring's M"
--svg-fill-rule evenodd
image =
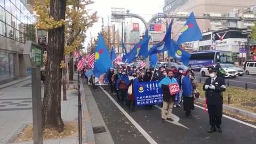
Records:
M43 66L43 50L42 47L31 44L30 58L34 66Z

